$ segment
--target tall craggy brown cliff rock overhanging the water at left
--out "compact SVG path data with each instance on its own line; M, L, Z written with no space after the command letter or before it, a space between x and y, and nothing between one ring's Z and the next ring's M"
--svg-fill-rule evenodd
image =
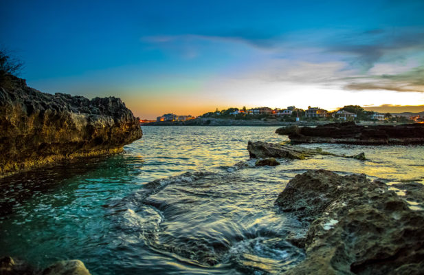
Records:
M119 98L45 94L14 76L0 83L0 176L118 153L140 137L139 121Z

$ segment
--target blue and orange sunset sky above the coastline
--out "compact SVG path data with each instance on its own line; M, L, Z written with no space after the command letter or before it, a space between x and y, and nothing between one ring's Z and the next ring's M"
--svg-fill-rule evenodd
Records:
M0 1L0 47L48 93L140 118L295 105L424 111L424 1Z

